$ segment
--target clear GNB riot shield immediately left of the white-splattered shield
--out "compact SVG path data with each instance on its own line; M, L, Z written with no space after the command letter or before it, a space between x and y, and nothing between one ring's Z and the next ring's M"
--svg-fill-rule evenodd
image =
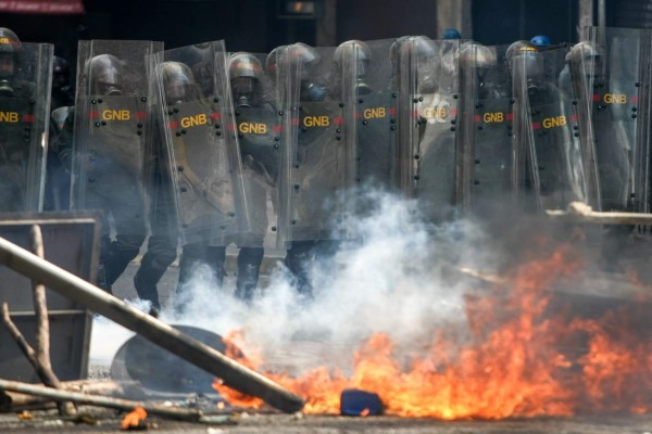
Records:
M359 192L398 188L398 77L391 59L393 39L340 44L335 66L341 71L346 101L348 157ZM396 62L394 62L396 63ZM364 196L356 212L366 208Z

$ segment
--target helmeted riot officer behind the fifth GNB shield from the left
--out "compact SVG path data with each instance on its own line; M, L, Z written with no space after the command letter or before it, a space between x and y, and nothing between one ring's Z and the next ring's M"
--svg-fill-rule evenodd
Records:
M296 279L298 291L305 296L312 294L309 269L315 260L328 259L336 252L342 234L335 233L334 221L341 222L341 210L346 207L337 191L342 191L342 179L350 179L346 169L347 150L342 145L346 126L337 125L335 119L342 116L341 95L331 84L328 89L322 82L328 80L323 66L322 53L304 43L294 43L287 48L291 78L290 107L301 127L293 133L291 145L291 188L288 248L285 265ZM330 49L324 54L333 55ZM330 65L327 65L330 69ZM328 118L328 125L313 125L314 118ZM327 201L330 208L323 206ZM324 263L322 263L324 264Z

